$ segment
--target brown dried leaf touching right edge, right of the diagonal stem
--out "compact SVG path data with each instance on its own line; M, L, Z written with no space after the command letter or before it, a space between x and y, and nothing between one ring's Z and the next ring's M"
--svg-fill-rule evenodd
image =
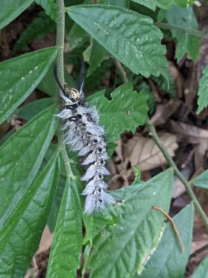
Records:
M191 144L199 144L200 142L207 142L208 131L200 129L198 126L185 124L184 122L169 121L170 130L177 134L177 140Z

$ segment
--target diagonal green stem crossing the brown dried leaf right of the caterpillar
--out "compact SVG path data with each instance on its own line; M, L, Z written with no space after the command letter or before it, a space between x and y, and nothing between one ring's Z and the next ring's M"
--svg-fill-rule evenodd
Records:
M190 199L193 201L193 204L195 205L196 210L198 211L200 217L202 218L203 222L205 223L205 227L208 230L207 215L202 210L202 207L200 206L200 204L198 202L198 199L196 199L196 196L193 193L193 190L192 190L192 188L191 188L191 186L189 184L189 181L187 181L187 179L184 178L184 176L182 175L180 170L177 169L177 167L175 165L175 162L171 158L170 154L168 154L168 151L167 151L166 147L164 146L164 144L162 143L162 141L157 136L157 132L155 130L155 126L150 122L150 120L146 121L146 128L148 129L148 132L149 132L150 136L153 138L155 144L157 145L157 147L159 147L160 151L164 155L164 158L166 158L166 161L167 161L168 165L173 167L173 170L174 170L176 176L178 177L178 179L180 179L180 181L185 186L185 188L187 190L187 194L189 195Z

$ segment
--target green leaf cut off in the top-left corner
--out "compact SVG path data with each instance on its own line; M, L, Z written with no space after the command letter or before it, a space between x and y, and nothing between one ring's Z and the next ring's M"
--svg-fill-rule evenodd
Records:
M1 0L0 29L18 17L33 0Z

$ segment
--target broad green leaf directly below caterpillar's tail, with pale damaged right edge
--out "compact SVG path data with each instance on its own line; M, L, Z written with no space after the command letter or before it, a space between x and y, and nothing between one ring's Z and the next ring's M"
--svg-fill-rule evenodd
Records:
M122 201L110 208L115 223L106 224L92 238L93 250L87 265L90 278L128 278L141 273L164 230L164 216L153 206L168 211L172 186L173 170L169 169L147 182L135 181L132 186L116 190L115 199Z

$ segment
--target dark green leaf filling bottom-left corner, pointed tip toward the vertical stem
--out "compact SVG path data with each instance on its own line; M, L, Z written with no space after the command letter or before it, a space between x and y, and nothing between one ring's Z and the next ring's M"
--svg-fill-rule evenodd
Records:
M1 230L0 276L24 277L38 248L60 174L58 152L44 167Z

